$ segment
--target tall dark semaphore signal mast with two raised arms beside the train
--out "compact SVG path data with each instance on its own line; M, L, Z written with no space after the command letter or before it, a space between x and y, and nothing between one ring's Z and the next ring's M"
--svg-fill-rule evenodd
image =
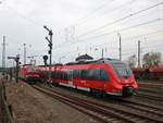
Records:
M49 46L49 56L50 56L50 59L49 59L49 82L51 82L51 62L52 62L52 29L49 29L47 26L43 26L45 29L48 30L48 34L50 36L50 39L48 37L46 37L46 39L48 40L48 46Z

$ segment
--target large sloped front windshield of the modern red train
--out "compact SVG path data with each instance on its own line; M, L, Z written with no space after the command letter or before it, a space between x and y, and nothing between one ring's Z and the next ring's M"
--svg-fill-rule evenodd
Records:
M121 76L127 78L131 74L129 66L125 63L112 63L112 66L118 78Z

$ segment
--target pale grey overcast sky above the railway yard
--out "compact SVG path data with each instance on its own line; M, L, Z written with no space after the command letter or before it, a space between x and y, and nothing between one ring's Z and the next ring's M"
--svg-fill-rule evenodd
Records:
M49 49L43 25L54 34L53 62L65 63L84 53L99 59L102 48L104 57L118 58L120 35L125 61L137 54L138 40L141 56L149 51L163 53L162 0L0 1L0 42L7 36L7 57L20 53L22 62L23 44L26 44L27 56L39 56L35 59L37 64L42 64L40 56ZM11 64L7 60L7 65Z

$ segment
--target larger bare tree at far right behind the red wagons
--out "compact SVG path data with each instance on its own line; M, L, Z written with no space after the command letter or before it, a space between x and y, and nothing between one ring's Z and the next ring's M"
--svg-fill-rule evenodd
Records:
M143 54L143 66L159 65L161 63L161 53L160 52L148 52Z

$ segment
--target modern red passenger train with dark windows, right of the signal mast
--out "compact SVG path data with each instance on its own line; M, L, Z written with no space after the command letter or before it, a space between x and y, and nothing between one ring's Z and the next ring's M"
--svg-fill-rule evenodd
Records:
M138 88L130 69L113 59L53 65L52 83L116 96L131 96Z

